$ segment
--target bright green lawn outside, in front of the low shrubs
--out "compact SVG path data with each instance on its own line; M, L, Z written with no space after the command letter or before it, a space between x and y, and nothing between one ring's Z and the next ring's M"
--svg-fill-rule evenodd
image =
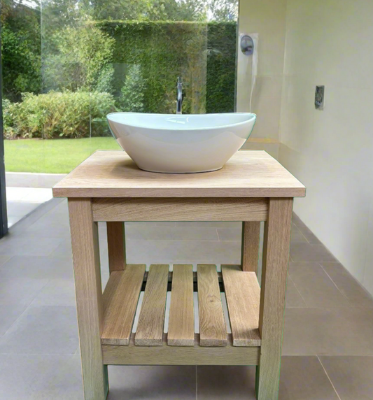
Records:
M4 141L9 172L69 173L96 150L118 150L113 137Z

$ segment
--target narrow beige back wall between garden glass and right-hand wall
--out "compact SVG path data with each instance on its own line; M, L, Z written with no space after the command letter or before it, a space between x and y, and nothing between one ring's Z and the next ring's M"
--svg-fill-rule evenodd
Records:
M251 143L244 148L265 149L277 157L286 31L286 0L241 0L239 33L258 33L258 78L250 110L251 63L238 53L237 111L258 115L251 138L267 138L268 143Z

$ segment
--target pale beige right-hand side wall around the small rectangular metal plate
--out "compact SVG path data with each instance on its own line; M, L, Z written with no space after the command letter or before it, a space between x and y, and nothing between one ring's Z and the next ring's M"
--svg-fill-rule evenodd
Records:
M288 0L279 158L307 186L295 212L373 294L372 16L371 0Z

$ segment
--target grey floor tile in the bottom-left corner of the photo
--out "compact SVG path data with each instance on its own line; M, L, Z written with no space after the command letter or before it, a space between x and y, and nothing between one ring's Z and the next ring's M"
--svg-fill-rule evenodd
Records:
M83 400L80 357L1 355L0 399Z

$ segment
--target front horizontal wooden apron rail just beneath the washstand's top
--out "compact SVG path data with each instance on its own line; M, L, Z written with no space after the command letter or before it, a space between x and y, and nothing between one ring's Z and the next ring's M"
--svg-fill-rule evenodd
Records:
M265 221L267 199L93 199L95 221Z

